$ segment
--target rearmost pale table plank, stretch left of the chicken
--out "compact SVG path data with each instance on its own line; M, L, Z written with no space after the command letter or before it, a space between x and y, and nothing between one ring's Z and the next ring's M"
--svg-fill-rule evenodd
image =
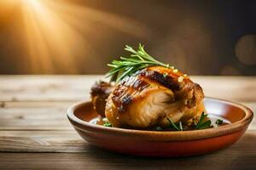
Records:
M78 101L102 76L1 76L0 101Z

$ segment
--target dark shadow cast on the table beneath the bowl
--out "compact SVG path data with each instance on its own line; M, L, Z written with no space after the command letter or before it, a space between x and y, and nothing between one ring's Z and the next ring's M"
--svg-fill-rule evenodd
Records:
M227 149L219 150L203 156L181 158L159 158L143 156L127 156L102 150L94 146L88 147L87 154L96 159L99 167L111 166L121 169L256 169L256 136L247 133L240 141ZM87 155L86 154L86 155Z

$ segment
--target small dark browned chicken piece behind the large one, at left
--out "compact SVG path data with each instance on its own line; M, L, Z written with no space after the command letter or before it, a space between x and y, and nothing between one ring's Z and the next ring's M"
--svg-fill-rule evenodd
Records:
M105 105L113 85L108 82L96 82L90 89L90 98L96 112L105 117Z

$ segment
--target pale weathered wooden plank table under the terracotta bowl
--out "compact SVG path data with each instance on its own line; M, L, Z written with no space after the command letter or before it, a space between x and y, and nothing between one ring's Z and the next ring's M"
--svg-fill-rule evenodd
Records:
M90 146L73 130L67 107L90 99L101 76L0 76L0 168L256 169L256 119L225 150L184 158L124 156ZM207 96L256 111L256 77L192 77Z

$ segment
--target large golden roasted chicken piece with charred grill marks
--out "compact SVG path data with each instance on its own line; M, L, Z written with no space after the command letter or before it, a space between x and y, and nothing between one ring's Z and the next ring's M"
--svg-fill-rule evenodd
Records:
M119 82L108 96L105 115L113 127L189 124L204 111L199 84L176 69L147 67Z

